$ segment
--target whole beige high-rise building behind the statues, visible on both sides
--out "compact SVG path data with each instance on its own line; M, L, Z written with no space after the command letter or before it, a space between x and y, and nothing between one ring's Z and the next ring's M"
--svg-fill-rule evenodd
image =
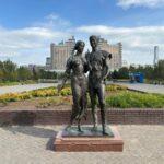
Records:
M58 45L50 44L50 58L46 58L46 69L47 70L65 70L67 59L71 56L73 47L75 45L75 39L68 39L67 42L61 42ZM113 54L110 62L110 70L117 70L121 68L121 50L122 45L118 43L116 45L109 45L107 40L99 37L98 49L106 50Z

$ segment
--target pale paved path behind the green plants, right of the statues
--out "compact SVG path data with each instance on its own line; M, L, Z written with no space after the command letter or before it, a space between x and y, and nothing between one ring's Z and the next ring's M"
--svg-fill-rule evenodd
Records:
M125 85L130 90L148 92L148 93L160 93L164 94L164 85L154 85L154 84L141 84L141 83L116 83L119 85Z

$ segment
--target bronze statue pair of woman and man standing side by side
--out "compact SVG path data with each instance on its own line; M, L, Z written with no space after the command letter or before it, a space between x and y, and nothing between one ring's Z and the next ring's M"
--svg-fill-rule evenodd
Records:
M83 117L86 119L86 92L89 89L92 108L93 131L97 131L98 133L101 130L98 127L96 114L97 98L101 108L102 133L104 136L108 136L105 119L105 80L109 73L109 60L112 59L112 54L98 49L97 36L90 36L90 45L92 47L92 51L87 51L85 57L83 57L82 54L85 46L84 42L79 40L75 43L72 56L67 60L65 72L66 78L63 79L62 84L58 86L58 91L63 87L67 79L70 77L73 105L69 127L71 127L73 121L77 120L77 131L79 131L78 133L84 133L83 130L85 128L82 130L80 122ZM89 72L89 79L86 79L86 72Z

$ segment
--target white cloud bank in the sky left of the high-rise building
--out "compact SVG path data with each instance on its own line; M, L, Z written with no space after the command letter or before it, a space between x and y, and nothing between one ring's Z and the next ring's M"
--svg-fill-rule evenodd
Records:
M55 14L49 14L42 22L24 28L8 30L0 26L0 58L22 58L24 63L44 61L49 55L49 44L58 43L70 35L61 28L70 25L69 22ZM31 56L28 61L26 55ZM43 59L34 61L33 58ZM35 57L34 57L35 56ZM31 60L31 61L30 61ZM19 60L17 60L19 62Z

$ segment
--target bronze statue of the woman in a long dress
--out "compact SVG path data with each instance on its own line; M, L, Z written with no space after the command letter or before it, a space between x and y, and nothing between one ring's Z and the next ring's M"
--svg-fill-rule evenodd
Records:
M85 72L87 71L87 65L85 58L82 57L82 52L85 44L82 40L75 43L72 56L67 60L66 66L66 78L61 85L58 85L58 91L60 91L69 75L71 77L71 90L73 96L72 114L70 118L70 126L73 120L78 120L78 130L81 132L81 118L86 119L86 90L87 82ZM75 55L74 51L77 50Z

